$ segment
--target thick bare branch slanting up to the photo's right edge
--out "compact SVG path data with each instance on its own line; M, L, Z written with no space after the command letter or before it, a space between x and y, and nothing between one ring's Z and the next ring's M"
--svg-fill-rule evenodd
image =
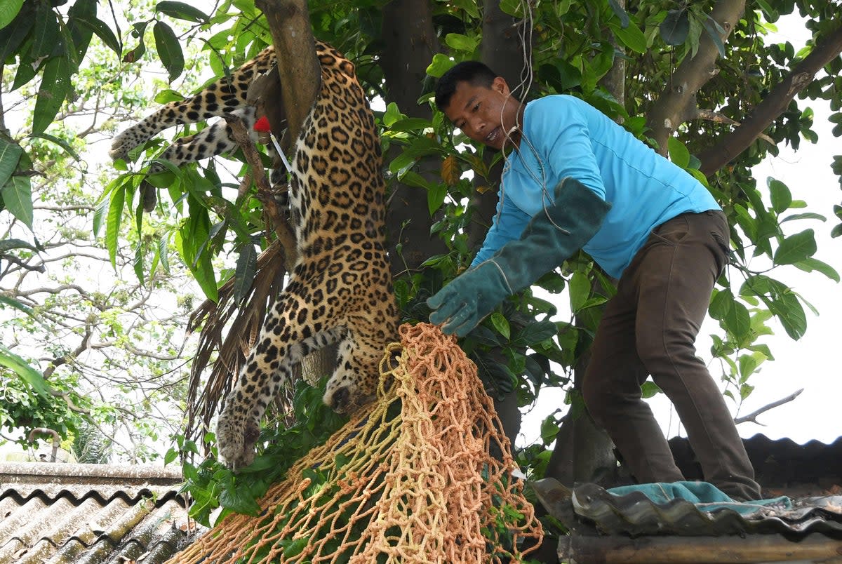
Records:
M816 73L839 56L840 52L842 52L842 26L820 40L813 51L798 63L768 96L763 98L747 119L743 120L743 125L721 136L717 145L697 155L701 161L701 173L710 176L745 151L786 109L792 98L807 88L807 85L813 82Z

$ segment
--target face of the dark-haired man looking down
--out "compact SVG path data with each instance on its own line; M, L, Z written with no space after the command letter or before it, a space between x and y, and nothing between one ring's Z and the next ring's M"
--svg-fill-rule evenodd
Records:
M506 142L520 143L520 130L513 130L519 125L519 110L520 102L512 98L509 85L502 77L495 78L491 88L459 82L444 109L453 125L472 141L498 150Z

